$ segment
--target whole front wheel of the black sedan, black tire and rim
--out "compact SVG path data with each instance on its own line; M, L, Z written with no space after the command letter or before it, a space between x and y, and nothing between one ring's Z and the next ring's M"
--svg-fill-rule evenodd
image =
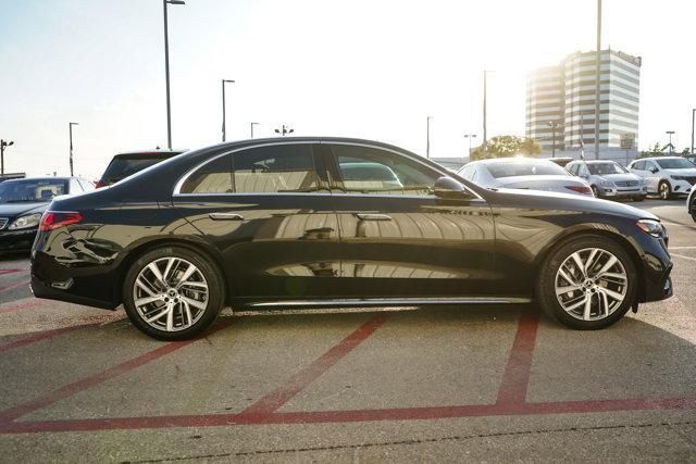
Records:
M598 251L595 252L594 264L591 265L587 273L589 278L586 278L572 255L579 253L581 262L585 263L583 260L589 261L592 250ZM617 263L607 271L611 272L612 276L593 280L592 278L611 260L611 256L617 259ZM574 279L574 283L568 281L561 275L559 271L561 265L563 265L562 271L566 276ZM621 279L614 276L622 273L625 276L625 283L619 284ZM629 311L635 301L638 287L637 278L638 274L633 260L619 242L604 236L584 235L570 239L551 251L542 264L536 296L544 312L552 318L574 329L595 330L609 327ZM574 289L576 283L581 283L581 285ZM557 294L557 286L573 288L573 290ZM598 290L597 287L600 287L601 290ZM604 310L606 306L602 300L602 293L607 290L614 293L614 297L607 296L609 311ZM622 296L622 299L617 299L616 294ZM588 298L591 308L587 316L585 302ZM566 309L561 301L566 304ZM579 302L581 304L576 306Z

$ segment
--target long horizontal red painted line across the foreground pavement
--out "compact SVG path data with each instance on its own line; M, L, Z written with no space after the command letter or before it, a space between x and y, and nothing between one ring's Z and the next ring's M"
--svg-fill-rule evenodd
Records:
M268 424L339 424L376 421L427 421L484 416L605 413L696 409L696 398L472 404L384 410L312 411L271 414L201 414L90 419L24 421L0 424L0 435L47 431L95 431L174 427L224 427Z

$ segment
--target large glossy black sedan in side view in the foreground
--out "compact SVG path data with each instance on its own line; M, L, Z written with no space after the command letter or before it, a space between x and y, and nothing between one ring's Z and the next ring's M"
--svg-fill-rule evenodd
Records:
M487 190L399 148L256 139L55 199L37 297L113 309L166 340L221 308L526 303L580 329L672 293L668 235L594 198Z

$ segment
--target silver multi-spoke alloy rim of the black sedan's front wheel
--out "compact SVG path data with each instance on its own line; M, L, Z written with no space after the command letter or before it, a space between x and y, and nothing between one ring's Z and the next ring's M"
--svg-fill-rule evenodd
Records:
M563 311L581 321L599 321L623 303L629 276L621 261L609 251L585 248L561 263L555 287Z

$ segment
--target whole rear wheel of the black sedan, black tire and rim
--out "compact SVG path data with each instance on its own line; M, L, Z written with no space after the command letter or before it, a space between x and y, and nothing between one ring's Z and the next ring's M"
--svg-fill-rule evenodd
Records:
M128 318L144 334L158 340L186 340L215 319L225 301L224 289L220 272L208 259L187 248L162 247L133 263L123 283L123 302Z

